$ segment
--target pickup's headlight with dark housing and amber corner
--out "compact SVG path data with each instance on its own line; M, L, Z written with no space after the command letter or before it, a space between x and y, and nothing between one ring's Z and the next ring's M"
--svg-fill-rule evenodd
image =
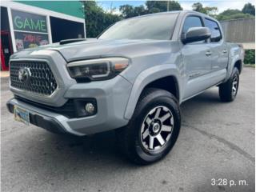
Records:
M114 78L129 64L127 58L88 59L67 64L71 78L77 82L99 81Z

